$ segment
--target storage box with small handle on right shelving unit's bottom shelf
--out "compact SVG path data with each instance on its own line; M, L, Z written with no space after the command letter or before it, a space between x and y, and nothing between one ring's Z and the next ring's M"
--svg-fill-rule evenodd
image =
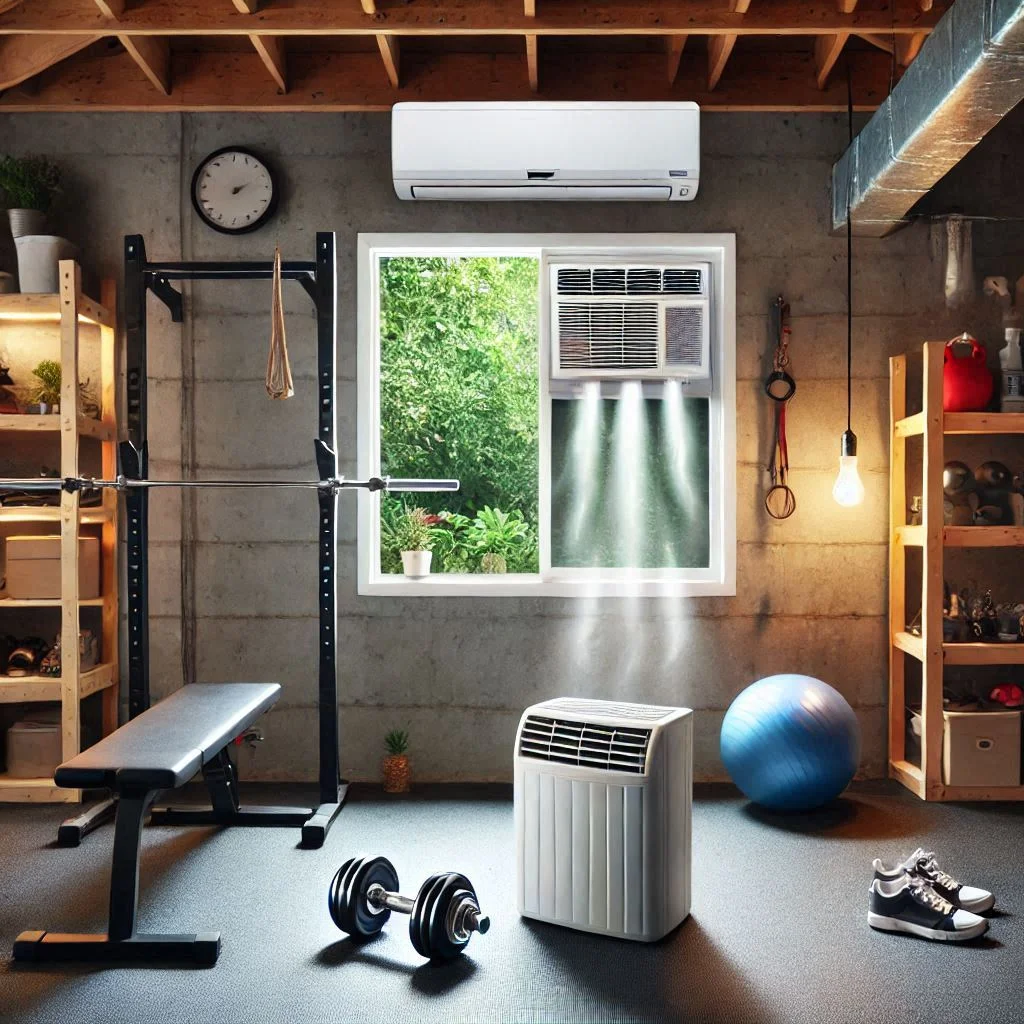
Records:
M946 785L1020 785L1019 711L944 711L942 779Z

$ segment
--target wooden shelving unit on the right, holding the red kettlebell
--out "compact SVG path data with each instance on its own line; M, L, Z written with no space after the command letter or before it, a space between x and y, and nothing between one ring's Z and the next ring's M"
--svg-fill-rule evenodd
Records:
M906 413L906 356L889 360L889 774L923 800L1024 800L1024 785L963 786L942 781L942 681L947 665L1024 665L1024 643L943 643L942 600L946 548L1022 548L1022 526L946 526L942 469L952 435L1024 434L1024 414L944 413L945 343L924 346L922 411ZM922 523L906 521L906 446L923 438ZM906 554L922 550L921 635L906 631ZM906 757L906 658L921 663L921 764Z

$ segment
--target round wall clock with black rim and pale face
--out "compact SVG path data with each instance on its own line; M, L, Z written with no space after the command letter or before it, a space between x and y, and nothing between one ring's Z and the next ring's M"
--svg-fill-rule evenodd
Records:
M273 213L278 186L255 154L227 146L210 154L193 176L193 206L214 230L253 231Z

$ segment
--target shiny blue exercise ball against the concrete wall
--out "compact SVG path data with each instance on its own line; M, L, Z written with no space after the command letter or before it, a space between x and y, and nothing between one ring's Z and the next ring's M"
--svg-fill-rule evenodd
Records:
M748 686L722 722L722 761L756 804L806 811L838 797L860 760L860 727L843 694L813 676Z

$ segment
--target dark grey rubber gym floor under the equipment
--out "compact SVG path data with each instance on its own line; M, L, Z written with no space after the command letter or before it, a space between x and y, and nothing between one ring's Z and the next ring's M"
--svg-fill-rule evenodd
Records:
M265 803L297 787L250 786ZM1019 1022L1024 995L1020 806L925 805L896 786L854 790L816 815L755 813L698 787L691 918L652 946L515 912L505 787L356 791L319 851L289 829L150 828L144 931L219 929L214 968L13 965L26 928L101 930L112 831L53 847L59 808L0 807L0 1020ZM945 945L865 924L872 856L922 844L962 881L992 888L988 937ZM402 889L437 869L475 884L494 922L468 955L431 967L406 920L356 946L326 905L338 864L392 859Z

